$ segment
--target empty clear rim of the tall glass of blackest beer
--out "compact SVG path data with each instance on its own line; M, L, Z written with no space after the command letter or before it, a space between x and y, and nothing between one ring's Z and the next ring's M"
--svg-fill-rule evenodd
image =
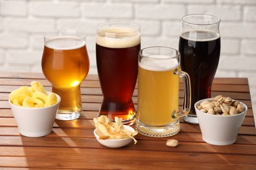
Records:
M185 20L186 18L192 18L193 16L201 16L201 17L207 16L207 17L210 17L210 18L214 18L216 21L215 22L211 22L211 23L198 24L198 23L195 23L195 22L188 22L188 21ZM209 26L209 25L217 25L217 24L219 24L221 22L221 19L218 18L217 16L214 16L214 15L211 15L211 14L188 14L188 15L183 16L181 18L181 22L185 23L185 24L190 24L190 25L205 25L205 26Z

